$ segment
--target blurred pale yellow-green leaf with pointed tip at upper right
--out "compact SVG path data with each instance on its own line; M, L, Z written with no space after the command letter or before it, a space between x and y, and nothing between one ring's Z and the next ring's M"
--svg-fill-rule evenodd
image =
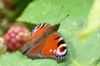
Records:
M100 29L100 22L99 22L100 21L100 13L99 13L100 7L98 7L99 3L100 1L98 0L94 1L94 4L88 16L87 26L80 33L80 39L85 39L89 35L91 35L93 31Z

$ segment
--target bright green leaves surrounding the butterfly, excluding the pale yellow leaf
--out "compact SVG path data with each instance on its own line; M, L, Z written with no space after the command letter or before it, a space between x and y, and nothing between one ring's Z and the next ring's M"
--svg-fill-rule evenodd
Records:
M98 0L95 0L98 1ZM57 63L53 59L31 60L20 52L6 53L0 58L1 66L100 66L100 30L95 29L92 35L80 40L80 31L87 26L94 0L34 0L31 2L18 21L31 24L56 24L69 14L59 28L68 46L68 56ZM63 5L61 13L59 13ZM57 20L57 17L59 18Z

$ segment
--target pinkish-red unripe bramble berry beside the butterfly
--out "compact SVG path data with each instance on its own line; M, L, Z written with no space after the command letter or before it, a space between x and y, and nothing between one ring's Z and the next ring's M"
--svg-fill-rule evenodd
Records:
M9 51L20 49L28 40L29 30L21 26L12 26L4 35L4 40Z

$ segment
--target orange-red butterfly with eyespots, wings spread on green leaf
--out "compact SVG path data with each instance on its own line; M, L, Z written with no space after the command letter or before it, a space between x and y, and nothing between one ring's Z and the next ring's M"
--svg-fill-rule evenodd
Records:
M57 62L65 59L67 46L58 31L60 24L39 24L32 29L30 42L21 48L21 52L32 59L53 58Z

